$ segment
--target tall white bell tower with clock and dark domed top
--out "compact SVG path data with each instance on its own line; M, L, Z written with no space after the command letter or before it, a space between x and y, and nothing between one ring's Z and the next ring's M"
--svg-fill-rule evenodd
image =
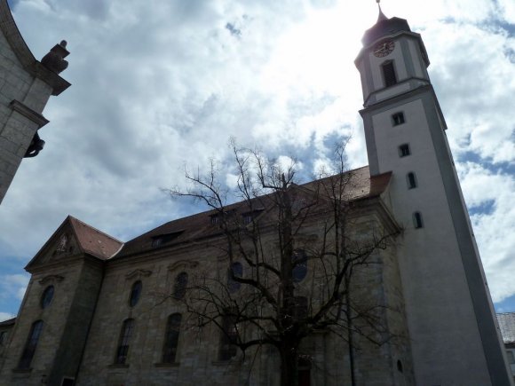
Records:
M379 18L355 60L370 174L392 171L390 202L416 384L510 385L495 312L432 88L408 22Z

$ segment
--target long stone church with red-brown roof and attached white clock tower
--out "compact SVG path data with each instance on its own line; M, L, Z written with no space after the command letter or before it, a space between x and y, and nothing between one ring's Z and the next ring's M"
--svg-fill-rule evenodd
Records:
M352 287L376 305L386 330L372 335L386 339L357 334L359 318L346 337L317 330L299 347L298 384L513 385L422 37L379 9L362 45L355 65L368 166L342 174L346 232L392 240L370 252ZM295 191L305 202L326 181ZM267 220L273 205L252 202L260 204L176 219L127 242L67 217L26 267L18 317L0 323L0 385L279 386L273 347L235 350L237 327L204 326L200 316L195 325L182 301L199 272L226 282L229 296L243 291L235 277L255 272L226 256L221 215L242 230L261 221L265 254L279 248ZM321 245L329 217L321 209L305 217L299 256ZM324 289L316 263L303 261L295 291L310 312Z

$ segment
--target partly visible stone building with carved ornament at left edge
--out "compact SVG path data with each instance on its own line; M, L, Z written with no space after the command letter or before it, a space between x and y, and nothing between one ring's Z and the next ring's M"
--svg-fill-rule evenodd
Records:
M6 0L0 0L0 203L23 158L35 157L44 140L38 130L51 95L65 91L58 74L67 67L66 42L56 44L40 61L28 49L12 19Z

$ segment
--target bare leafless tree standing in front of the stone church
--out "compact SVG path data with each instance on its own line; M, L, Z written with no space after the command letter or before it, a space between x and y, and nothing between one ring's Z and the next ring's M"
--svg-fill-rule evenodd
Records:
M186 171L190 189L170 190L212 209L224 242L226 272L199 272L183 297L200 327L214 325L223 338L220 358L236 349L272 345L281 358L281 385L295 386L302 341L317 332L347 341L353 376L353 337L380 345L390 338L384 306L351 290L376 264L395 231L359 225L353 172L345 169L345 143L331 168L309 184L296 184L295 163L283 168L258 151L231 143L237 168L233 191L216 163L207 175ZM227 197L240 202L228 205ZM243 268L245 272L243 273ZM226 273L226 274L225 274ZM354 384L354 381L353 381Z

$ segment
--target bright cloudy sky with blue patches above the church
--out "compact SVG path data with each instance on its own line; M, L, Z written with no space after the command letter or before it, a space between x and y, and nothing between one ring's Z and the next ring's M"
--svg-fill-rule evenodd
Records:
M199 208L161 188L228 155L231 136L305 174L351 135L367 163L359 73L373 0L10 0L37 59L62 39L72 83L44 110L44 151L0 206L0 319L23 266L68 214L130 240ZM515 311L515 2L384 0L423 35L497 311Z

